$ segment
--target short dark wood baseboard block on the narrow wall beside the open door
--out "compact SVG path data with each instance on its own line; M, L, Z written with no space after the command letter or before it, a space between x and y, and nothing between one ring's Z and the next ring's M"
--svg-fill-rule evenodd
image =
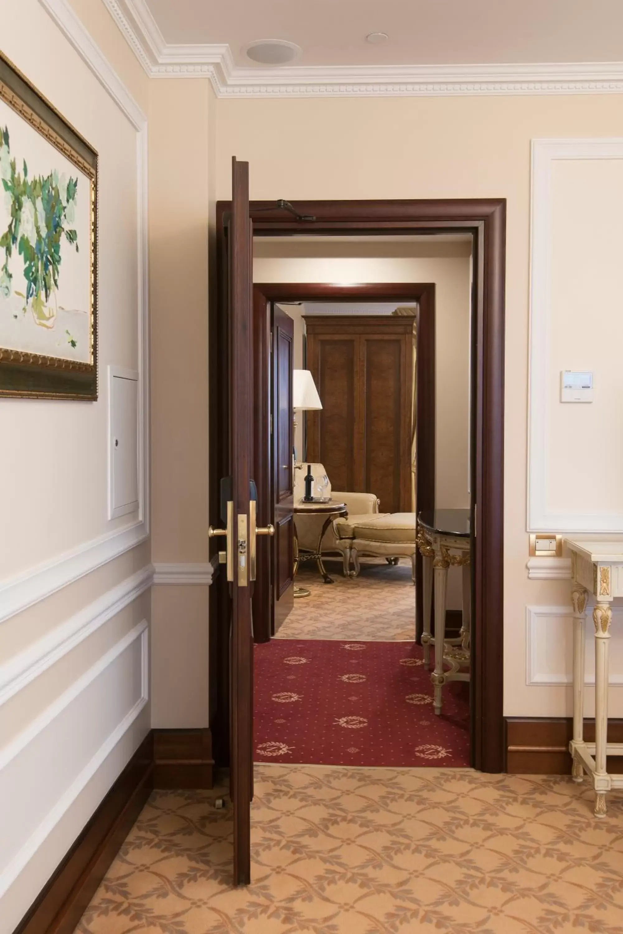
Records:
M154 729L154 788L211 788L214 785L209 729Z

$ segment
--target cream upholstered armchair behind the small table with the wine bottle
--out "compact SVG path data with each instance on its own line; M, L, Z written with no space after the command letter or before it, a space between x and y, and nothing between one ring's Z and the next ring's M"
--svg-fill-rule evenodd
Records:
M304 469L297 469L294 472L294 502L300 502L304 497L304 474L306 474L307 464L304 463ZM312 476L318 479L319 476L326 474L324 466L320 463L311 465ZM373 493L343 493L332 491L331 478L329 478L329 487L325 491L325 496L330 496L334 502L344 502L348 510L348 518L340 521L362 521L378 516L378 500ZM296 517L296 537L298 546L303 551L316 551L319 544L319 536L322 531L322 525L325 516L303 516L299 514ZM324 555L340 555L344 563L344 575L350 574L350 555L351 555L351 537L342 537L337 533L336 523L332 522L322 538L320 553Z

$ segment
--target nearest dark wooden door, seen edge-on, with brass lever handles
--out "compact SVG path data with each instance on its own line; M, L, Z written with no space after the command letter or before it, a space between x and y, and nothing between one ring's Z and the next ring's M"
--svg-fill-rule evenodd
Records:
M256 502L252 464L251 289L252 229L248 163L233 161L232 213L227 223L229 346L229 476L221 478L230 593L230 791L234 805L234 885L250 882L250 803L253 796L253 644L251 588L255 578ZM257 530L270 534L272 527Z

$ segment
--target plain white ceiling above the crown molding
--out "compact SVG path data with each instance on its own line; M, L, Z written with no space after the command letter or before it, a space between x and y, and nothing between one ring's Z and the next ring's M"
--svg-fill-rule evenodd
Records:
M622 0L147 0L167 44L288 39L298 66L623 61ZM385 32L371 45L365 36Z

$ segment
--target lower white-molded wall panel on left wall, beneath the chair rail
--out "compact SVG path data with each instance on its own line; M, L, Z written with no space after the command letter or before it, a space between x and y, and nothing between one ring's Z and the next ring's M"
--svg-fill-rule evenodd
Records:
M148 701L149 626L143 620L2 749L0 934L19 922L59 853L147 735L149 716L141 713ZM34 794L33 776L41 771L46 781L36 783Z

